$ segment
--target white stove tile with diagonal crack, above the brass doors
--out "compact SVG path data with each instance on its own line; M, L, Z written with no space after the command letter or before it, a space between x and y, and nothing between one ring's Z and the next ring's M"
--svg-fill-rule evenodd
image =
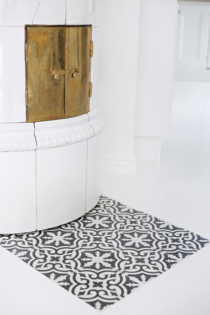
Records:
M0 2L1 26L65 24L65 19L65 0L2 0Z

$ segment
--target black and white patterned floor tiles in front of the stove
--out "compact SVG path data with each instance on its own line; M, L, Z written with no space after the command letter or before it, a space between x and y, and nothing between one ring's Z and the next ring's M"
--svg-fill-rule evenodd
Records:
M0 245L101 310L209 240L107 197L62 226L0 235Z

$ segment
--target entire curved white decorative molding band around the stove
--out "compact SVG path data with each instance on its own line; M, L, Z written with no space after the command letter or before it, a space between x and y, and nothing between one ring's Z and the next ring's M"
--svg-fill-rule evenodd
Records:
M35 129L33 123L0 123L0 152L67 146L97 135L104 124L98 105L80 116L36 122Z

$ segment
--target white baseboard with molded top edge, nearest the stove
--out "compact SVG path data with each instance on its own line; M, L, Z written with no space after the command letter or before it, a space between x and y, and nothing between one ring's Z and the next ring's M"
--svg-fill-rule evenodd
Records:
M134 155L104 155L101 157L102 173L136 174L136 157Z

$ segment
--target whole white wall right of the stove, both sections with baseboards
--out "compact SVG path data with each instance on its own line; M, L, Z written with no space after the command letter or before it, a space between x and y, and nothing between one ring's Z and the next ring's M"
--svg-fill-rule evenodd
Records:
M169 133L177 0L106 0L99 9L102 170L134 174L133 151L139 160L159 161Z

